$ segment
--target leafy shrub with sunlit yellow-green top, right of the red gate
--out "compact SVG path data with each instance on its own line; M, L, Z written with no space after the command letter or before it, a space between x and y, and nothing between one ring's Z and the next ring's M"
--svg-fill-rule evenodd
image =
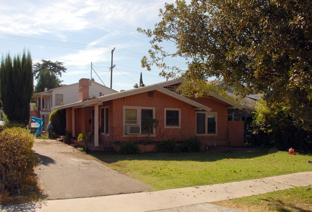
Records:
M295 148L310 151L312 148L312 132L298 129L287 114L285 106L266 101L259 101L252 124L247 130L246 142L254 146L266 148L277 147L281 150Z

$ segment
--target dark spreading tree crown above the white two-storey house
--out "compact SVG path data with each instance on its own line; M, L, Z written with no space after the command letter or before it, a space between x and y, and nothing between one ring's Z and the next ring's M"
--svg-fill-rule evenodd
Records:
M64 67L64 63L56 60L53 63L51 60L41 60L41 63L37 62L33 65L33 73L35 79L38 80L40 76L40 72L48 69L51 73L54 73L57 77L62 76L62 73L65 73L67 68Z

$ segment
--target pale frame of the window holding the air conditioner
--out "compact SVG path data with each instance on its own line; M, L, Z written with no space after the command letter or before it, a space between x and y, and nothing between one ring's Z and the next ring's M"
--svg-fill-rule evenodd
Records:
M136 109L137 110L137 123L136 124L126 124L126 109ZM155 118L155 107L135 107L135 106L124 106L123 108L123 130L124 130L124 134L123 137L146 137L147 134L125 134L125 125L130 125L130 126L141 126L141 109L149 109L149 110L153 110L153 119ZM150 134L151 137L155 137L155 129L153 128L153 132Z

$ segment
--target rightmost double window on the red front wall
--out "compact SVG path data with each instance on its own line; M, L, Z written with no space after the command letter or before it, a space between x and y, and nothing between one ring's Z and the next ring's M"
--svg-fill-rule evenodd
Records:
M196 112L196 134L217 134L217 113Z

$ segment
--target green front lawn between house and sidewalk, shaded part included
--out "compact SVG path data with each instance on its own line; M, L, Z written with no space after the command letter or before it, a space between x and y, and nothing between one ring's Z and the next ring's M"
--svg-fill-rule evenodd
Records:
M225 155L233 160L228 159ZM107 166L157 190L202 186L312 171L310 155L269 149L239 153L93 155ZM131 160L130 160L131 159Z

